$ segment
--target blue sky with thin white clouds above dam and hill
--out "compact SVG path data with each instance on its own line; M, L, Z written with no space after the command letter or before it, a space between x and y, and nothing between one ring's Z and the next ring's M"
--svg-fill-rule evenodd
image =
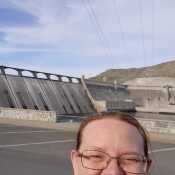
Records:
M0 65L90 77L175 58L174 0L0 0Z

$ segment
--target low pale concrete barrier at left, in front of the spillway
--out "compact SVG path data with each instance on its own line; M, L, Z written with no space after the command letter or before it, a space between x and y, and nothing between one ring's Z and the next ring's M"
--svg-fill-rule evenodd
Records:
M41 111L20 108L0 108L0 118L56 122L54 111Z

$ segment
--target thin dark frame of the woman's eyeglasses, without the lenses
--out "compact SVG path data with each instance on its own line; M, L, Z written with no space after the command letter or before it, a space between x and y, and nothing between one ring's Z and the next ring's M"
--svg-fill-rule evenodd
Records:
M103 169L93 169L93 168L88 168L88 167L84 166L84 164L83 164L83 157L84 157L85 155L83 155L83 152L85 152L85 151L98 151L98 152L101 152L101 153L107 155L107 156L109 157L109 161L107 161L106 167L104 167ZM96 171L98 171L98 170L99 170L99 171L100 171L100 170L102 171L102 170L106 169L106 168L108 167L108 165L109 165L109 163L111 162L112 159L115 159L115 160L117 161L118 166L119 166L123 171L125 171L125 170L121 167L119 159L120 159L120 157L123 156L123 155L131 155L131 154L129 154L129 153L124 153L124 154L121 154L121 155L119 155L119 156L114 157L114 156L111 156L110 154L106 153L105 151L94 150L94 149L86 149L86 150L83 150L82 152L77 151L77 153L78 153L78 156L81 158L81 164L82 164L83 168L91 169L91 170L96 170ZM128 171L125 171L125 172L131 173L131 174L145 174L146 171L148 170L148 166L151 164L151 159L147 158L146 156L144 156L144 155L142 155L142 154L133 154L133 155L139 155L139 156L141 156L141 157L143 158L143 161L142 161L142 162L146 163L146 170L145 170L144 173L132 173L132 172L128 172Z

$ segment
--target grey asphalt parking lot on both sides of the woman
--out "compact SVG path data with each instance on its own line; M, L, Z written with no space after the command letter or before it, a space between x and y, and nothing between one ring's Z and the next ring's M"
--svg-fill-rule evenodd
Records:
M4 175L72 174L69 152L75 133L0 124L0 170ZM174 175L175 144L152 142L151 175Z

